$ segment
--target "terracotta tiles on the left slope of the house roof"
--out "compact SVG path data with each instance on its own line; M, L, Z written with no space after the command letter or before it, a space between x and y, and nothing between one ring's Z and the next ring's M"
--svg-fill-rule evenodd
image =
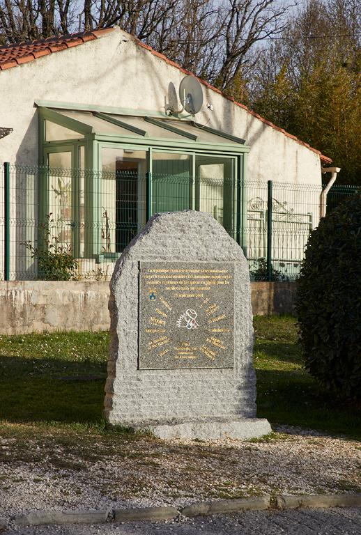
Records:
M48 37L46 39L3 45L0 47L0 70L10 69L16 67L16 65L33 61L42 56L77 47L84 42L98 39L109 31L113 31L113 29L104 28L94 31L84 31L82 33L72 33L68 36Z

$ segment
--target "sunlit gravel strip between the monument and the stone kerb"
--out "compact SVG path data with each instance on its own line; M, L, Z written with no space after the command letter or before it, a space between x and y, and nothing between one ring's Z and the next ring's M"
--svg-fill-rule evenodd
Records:
M0 437L0 517L39 509L182 507L269 493L361 492L360 442L297 428L277 431L259 442L119 435L74 435L67 442L45 432L22 441Z

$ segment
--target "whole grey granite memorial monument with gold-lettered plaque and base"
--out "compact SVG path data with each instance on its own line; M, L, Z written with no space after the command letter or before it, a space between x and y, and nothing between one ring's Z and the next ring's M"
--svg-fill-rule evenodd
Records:
M255 417L247 262L211 215L154 215L116 263L109 310L110 424L162 438L271 431Z

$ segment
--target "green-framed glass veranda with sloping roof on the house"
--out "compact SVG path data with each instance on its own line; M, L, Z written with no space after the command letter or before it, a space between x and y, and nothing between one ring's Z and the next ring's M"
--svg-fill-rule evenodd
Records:
M109 253L115 259L120 253L115 250L105 251L100 238L102 208L104 208L101 205L105 188L102 153L107 148L118 149L123 153L128 151L130 161L132 152L146 155L146 168L144 168L146 172L137 173L137 180L139 183L141 180L144 180L144 183L146 180L151 180L153 188L151 211L167 209L167 201L164 199L167 198L168 191L168 197L173 199L171 209L191 208L211 212L224 224L233 238L242 244L245 212L242 210L244 203L242 185L245 180L246 158L249 152L249 148L245 146L242 139L201 126L189 117L169 118L159 112L152 114L146 111L110 109L109 107L102 109L59 102L38 102L37 104L40 164L45 169L50 169L53 154L71 154L72 221L70 228L72 228L75 256L99 260L101 256ZM47 104L47 106L42 104ZM50 125L57 125L60 128L59 138L62 137L62 139L54 139L54 135L47 135ZM61 128L66 129L66 131L63 130L63 135L61 135ZM53 130L56 129L53 128ZM74 132L74 137L72 137L72 132ZM123 157L123 160L127 159ZM185 172L186 160L187 173ZM118 162L121 162L121 157ZM119 169L114 169L114 171L116 171L116 178L121 180L121 171ZM206 196L207 192L210 195L212 187L214 194L217 187L219 191L220 178L223 179L222 202L225 204L222 208L216 207L217 209L213 210L210 203L206 202ZM82 184L80 184L80 179L83 180ZM134 176L132 179L134 180ZM40 220L43 220L42 218L49 212L49 180L49 173L47 173L47 176L40 181ZM169 187L171 180L174 181L173 189ZM178 185L176 185L177 180ZM187 182L187 194L185 194ZM144 183L141 185L143 189L137 199L138 203L144 203L151 189L149 187L144 189ZM80 202L81 196L84 199L83 206ZM160 199L163 201L160 202ZM145 223L145 211L140 210L139 214L141 217L137 220L138 230ZM80 236L79 228L82 226L84 226L84 233Z

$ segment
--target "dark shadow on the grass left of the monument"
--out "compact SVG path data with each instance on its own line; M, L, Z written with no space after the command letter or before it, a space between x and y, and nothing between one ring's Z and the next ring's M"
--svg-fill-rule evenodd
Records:
M107 363L0 357L0 419L97 423Z

